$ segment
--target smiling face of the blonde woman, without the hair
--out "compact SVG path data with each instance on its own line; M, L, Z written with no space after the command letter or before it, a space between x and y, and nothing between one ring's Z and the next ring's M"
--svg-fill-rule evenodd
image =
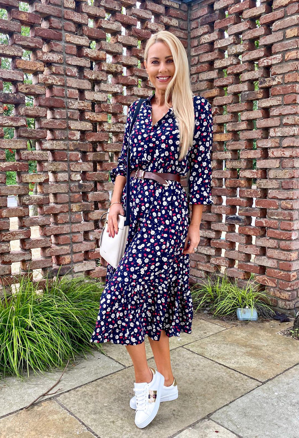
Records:
M148 60L144 61L144 66L156 90L165 91L175 72L169 47L164 42L155 42L148 50Z

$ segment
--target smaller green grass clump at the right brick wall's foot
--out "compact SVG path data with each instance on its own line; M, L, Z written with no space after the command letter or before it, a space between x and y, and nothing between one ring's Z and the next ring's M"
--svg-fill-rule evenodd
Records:
M229 281L226 275L218 276L214 283L208 277L203 284L195 284L191 288L195 312L208 310L213 316L234 316L238 307L250 309L256 308L260 314L263 309L271 311L266 303L270 304L270 295L257 290L259 285L254 286L248 280L244 289Z

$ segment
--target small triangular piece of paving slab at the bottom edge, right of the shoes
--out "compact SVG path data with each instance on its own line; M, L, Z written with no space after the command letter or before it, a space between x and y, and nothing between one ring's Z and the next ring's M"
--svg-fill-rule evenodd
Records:
M201 420L176 435L176 438L236 438L237 435L212 420Z

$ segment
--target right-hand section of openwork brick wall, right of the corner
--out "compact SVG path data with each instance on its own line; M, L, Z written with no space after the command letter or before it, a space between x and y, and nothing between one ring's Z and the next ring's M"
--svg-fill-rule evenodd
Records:
M190 7L193 89L213 108L213 199L197 269L250 275L292 309L299 291L299 6L203 1Z

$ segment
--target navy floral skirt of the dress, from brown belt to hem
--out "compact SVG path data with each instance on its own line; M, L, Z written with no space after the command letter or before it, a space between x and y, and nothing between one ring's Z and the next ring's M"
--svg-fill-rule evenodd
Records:
M122 194L126 205L126 186ZM130 177L130 229L117 268L107 265L91 343L137 345L145 336L191 333L190 254L183 254L189 219L186 191Z

